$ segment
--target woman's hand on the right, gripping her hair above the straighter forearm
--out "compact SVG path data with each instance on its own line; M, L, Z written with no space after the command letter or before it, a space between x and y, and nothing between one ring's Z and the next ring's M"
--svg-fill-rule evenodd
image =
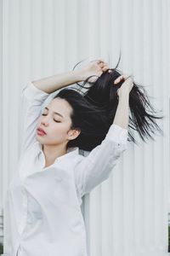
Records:
M114 84L120 83L122 80L124 82L122 83L122 86L117 90L117 95L120 97L122 94L129 94L130 91L133 89L133 79L131 76L127 76L125 74L121 75L118 77L115 81Z

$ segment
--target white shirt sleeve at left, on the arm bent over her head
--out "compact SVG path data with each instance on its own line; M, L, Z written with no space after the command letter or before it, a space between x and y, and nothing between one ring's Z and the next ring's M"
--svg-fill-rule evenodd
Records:
M39 90L33 83L26 84L21 91L21 154L36 141L37 119L42 111L42 104L49 94Z

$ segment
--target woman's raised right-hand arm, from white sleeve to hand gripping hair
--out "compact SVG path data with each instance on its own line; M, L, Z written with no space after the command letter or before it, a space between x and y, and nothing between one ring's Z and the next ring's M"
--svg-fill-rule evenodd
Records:
M127 148L128 100L132 88L132 79L126 79L118 90L116 115L105 139L77 163L75 177L77 191L81 197L110 176L117 160Z

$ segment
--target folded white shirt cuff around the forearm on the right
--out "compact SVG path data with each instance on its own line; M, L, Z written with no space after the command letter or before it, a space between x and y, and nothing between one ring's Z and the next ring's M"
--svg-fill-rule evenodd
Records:
M106 134L106 140L112 140L118 144L127 144L127 129L122 128L119 125L112 124L109 131Z

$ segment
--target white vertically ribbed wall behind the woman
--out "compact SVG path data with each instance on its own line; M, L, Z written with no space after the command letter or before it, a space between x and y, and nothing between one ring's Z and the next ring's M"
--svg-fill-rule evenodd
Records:
M20 154L20 92L28 81L101 56L145 84L164 137L129 143L111 177L82 205L91 256L167 254L170 2L1 0L0 206ZM137 136L136 136L137 137Z

